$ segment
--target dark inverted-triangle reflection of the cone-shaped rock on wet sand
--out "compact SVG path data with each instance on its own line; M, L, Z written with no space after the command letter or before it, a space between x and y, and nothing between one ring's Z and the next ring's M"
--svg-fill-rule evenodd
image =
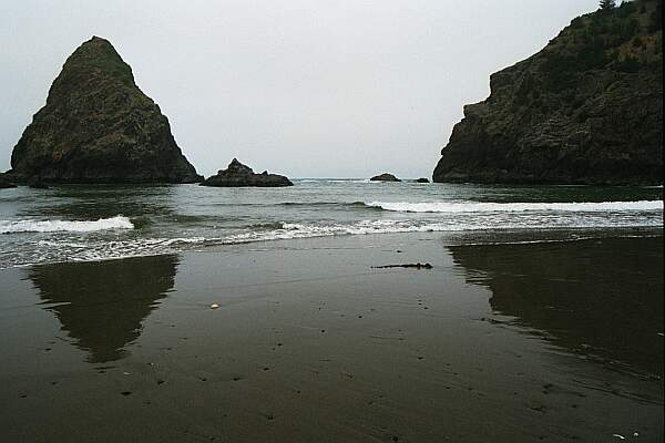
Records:
M102 363L126 354L141 322L173 288L177 257L34 266L28 278L75 346Z

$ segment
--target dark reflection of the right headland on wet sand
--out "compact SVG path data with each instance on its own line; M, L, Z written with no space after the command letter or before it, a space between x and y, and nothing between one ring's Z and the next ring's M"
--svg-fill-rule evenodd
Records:
M663 375L663 239L450 247L490 303L557 346Z

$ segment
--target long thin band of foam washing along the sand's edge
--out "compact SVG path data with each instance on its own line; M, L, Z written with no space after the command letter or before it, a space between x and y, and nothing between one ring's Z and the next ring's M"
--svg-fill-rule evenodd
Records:
M560 217L525 215L524 217L509 217L502 214L487 214L483 217L475 215L454 217L450 220L427 219L379 219L359 220L347 224L315 224L315 223L283 223L282 228L270 230L246 229L232 235L211 237L152 237L152 238L122 238L113 239L91 238L90 243L74 241L74 236L53 236L40 239L34 244L40 246L27 250L20 256L4 257L0 260L0 268L7 266L21 266L25 264L54 262L54 261L89 261L112 258L152 256L162 254L177 254L192 248L215 245L234 245L254 241L272 241L286 239L303 239L313 237L331 237L347 235L372 235L392 233L469 233L474 230L530 230L542 228L633 228L662 226L662 217L641 217L641 223L633 219L633 214L621 213L614 218L587 215L584 217ZM123 217L124 218L124 217ZM501 220L499 220L499 218ZM548 220L554 218L554 220ZM95 223L95 222L89 222ZM222 234L222 233L219 233ZM30 237L27 238L30 240ZM31 240L30 240L31 241Z

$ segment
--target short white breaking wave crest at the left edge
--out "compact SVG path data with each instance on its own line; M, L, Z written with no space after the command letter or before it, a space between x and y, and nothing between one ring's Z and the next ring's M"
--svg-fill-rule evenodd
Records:
M0 220L0 234L11 233L92 233L106 229L133 229L132 222L122 215L100 218L94 222L83 220Z

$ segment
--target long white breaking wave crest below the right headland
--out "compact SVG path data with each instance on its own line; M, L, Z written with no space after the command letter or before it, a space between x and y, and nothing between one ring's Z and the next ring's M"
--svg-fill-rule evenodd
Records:
M663 210L663 200L597 203L371 202L366 203L366 205L399 213L521 213L543 210L604 213L625 210Z

